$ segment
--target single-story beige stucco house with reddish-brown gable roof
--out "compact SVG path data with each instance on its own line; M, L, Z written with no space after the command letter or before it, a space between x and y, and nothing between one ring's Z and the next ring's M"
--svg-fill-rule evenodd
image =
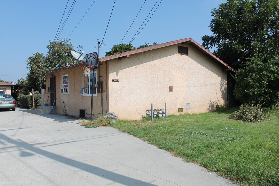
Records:
M165 102L168 115L210 112L227 105L227 73L234 72L191 38L99 61L100 68L91 70L89 79L79 67L85 62L34 75L46 74L46 97L50 105L57 98L57 113L84 117L87 111L90 118L92 93L97 116L114 112L119 119L141 119L151 103L164 108Z

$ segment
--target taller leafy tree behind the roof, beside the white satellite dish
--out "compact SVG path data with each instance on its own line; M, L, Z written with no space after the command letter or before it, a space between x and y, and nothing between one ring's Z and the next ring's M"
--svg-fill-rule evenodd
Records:
M45 63L49 69L56 69L66 66L67 62L71 64L76 61L76 59L71 54L71 50L78 51L83 47L79 46L79 49L77 47L75 48L70 40L65 40L62 38L55 42L50 40L47 48L49 51L45 57Z

